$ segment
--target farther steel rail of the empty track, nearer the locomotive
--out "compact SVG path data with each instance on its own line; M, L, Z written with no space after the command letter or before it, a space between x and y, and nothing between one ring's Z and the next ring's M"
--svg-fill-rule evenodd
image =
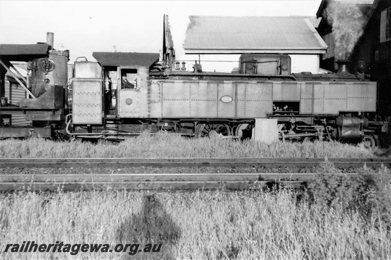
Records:
M336 167L390 167L391 158L330 158ZM301 158L15 158L0 159L0 168L66 167L316 167L325 159Z

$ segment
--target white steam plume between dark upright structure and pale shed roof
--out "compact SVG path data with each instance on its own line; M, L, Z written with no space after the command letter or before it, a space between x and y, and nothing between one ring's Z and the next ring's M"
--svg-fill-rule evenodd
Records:
M183 44L186 39L186 30L190 25L190 19L182 14L169 14L171 36L174 43L175 60L186 60Z

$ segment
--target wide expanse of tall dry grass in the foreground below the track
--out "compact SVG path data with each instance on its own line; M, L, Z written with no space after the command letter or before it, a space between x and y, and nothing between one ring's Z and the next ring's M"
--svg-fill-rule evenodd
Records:
M1 195L2 259L128 259L127 253L3 253L5 243L163 243L156 259L389 259L375 208L297 201L291 190Z

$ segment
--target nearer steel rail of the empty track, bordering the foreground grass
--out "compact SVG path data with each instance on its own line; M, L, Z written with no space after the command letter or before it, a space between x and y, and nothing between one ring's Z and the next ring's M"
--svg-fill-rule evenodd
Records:
M298 187L315 178L313 173L4 174L0 191L248 189L276 182Z

